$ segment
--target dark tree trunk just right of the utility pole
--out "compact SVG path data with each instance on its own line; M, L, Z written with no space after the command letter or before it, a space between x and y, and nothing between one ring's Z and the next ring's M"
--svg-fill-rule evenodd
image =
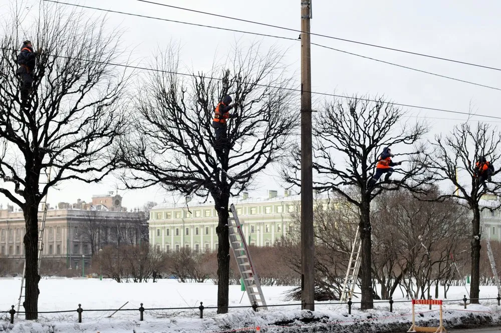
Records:
M362 202L360 207L360 239L362 240L362 262L360 269L362 270L362 310L372 309L373 290L372 290L372 241L371 241L371 221L370 221L370 201L369 195L362 194Z

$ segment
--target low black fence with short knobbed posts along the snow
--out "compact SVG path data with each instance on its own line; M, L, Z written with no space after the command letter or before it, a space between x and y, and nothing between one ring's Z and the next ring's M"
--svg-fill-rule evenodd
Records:
M496 298L466 298L466 295L464 295L463 298L461 299L444 299L443 302L460 302L462 301L463 304L464 304L464 308L466 308L467 306L467 302L468 300L471 301L471 300L497 300L497 305L501 305L501 296L498 294ZM411 302L411 300L393 300L392 297L390 297L390 299L388 300L382 300L382 301L373 301L372 303L374 304L381 304L381 303L385 303L385 304L388 304L389 305L389 311L390 312L393 312L393 303L406 303L406 302ZM350 299L348 299L348 301L345 303L345 302L326 302L326 303L314 303L315 306L324 306L324 305L347 305L348 306L348 314L351 314L351 310L352 310L352 306L353 304L360 304L362 305L362 303L364 302L354 302ZM294 303L294 304L273 304L273 305L267 305L267 307L276 307L276 306L299 306L301 305L301 303ZM305 303L306 305L306 303ZM260 307L263 307L264 305L258 305L256 302L254 302L253 305L251 306L248 306L248 305L239 305L239 306L227 306L227 308L252 308L254 311L258 311ZM217 306L203 306L203 302L200 302L200 306L198 307L151 307L151 308L145 308L143 307L143 303L141 303L141 306L139 308L132 308L132 309L123 309L123 308L119 308L119 309L84 309L82 308L82 304L78 304L78 308L76 310L62 310L62 311L38 311L38 313L69 313L69 312L77 312L78 313L78 322L82 322L82 313L84 311L87 311L87 312L91 312L91 311L94 311L94 312L107 312L107 311L115 311L118 312L118 311L139 311L139 320L140 321L143 321L144 320L144 312L145 311L155 311L155 310L188 310L188 309L191 309L191 310L198 310L199 311L199 317L200 318L203 318L203 311L205 309L217 309L218 307ZM431 309L431 304L430 304L430 309ZM14 305L11 306L11 309L9 311L0 311L0 313L9 313L11 315L11 324L14 323L14 317L15 317L15 314L16 313L30 313L30 312L26 312L26 311L19 311L17 312L15 309L14 309Z

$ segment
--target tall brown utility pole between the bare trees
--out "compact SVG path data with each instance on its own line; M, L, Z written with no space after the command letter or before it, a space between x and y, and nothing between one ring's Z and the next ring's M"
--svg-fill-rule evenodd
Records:
M301 0L301 303L315 310L312 171L311 0Z

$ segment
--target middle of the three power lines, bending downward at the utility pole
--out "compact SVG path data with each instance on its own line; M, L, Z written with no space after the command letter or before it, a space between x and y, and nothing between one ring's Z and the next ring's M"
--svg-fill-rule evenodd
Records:
M44 0L44 1L51 2L51 3L56 3L56 4L61 4L61 5L68 5L68 6L81 7L81 8L86 8L86 9L104 11L104 12L109 12L109 13L124 14L124 15L129 15L129 16L136 16L136 17L141 17L141 18L146 18L146 19L154 19L154 20L167 21L167 22L172 22L172 23L181 23L181 24L192 25L192 26L197 26L197 27L202 27L202 28L211 28L211 29L218 29L218 30L224 30L224 31L232 31L232 32L237 32L237 33L252 34L252 35L263 36L263 37L273 37L273 38L285 39L285 40L296 41L296 42L298 41L298 39L290 38L290 37L283 37L283 36L276 36L276 35L269 35L269 34L261 34L261 33L249 32L249 31L229 29L229 28L213 27L213 26L202 25L202 24L197 24L197 23L190 23L190 22L183 22L183 21L162 19L162 18L151 17L151 16L146 16L146 15L140 15L140 14L134 14L134 13L126 13L126 12L106 10L106 9L101 9L101 8L96 8L96 7L90 7L90 6L83 6L83 5L63 3L63 2L58 2L58 1L54 1L54 0ZM138 1L143 1L143 0L138 0ZM170 5L168 7L177 8L176 6L170 6ZM197 12L197 11L195 11L195 12ZM214 15L216 15L216 14L214 14ZM216 16L218 16L218 15L216 15ZM450 76L445 76L445 75L436 74L436 73L432 73L432 72L428 72L428 71L424 71L424 70L420 70L420 69L416 69L416 68L412 68L412 67L408 67L408 66L404 66L404 65L399 65L399 64L392 63L392 62L388 62L388 61L384 61L384 60L379 60L379 59L375 59L375 58L363 56L363 55L360 55L360 54L356 54L356 53L352 53L352 52L348 52L348 51L343 51L343 50L335 49L335 48L332 48L332 47L329 47L329 46L325 46L325 45L321 45L321 44L312 43L312 45L319 46L319 47L326 48L326 49L330 49L330 50L337 51L337 52L342 52L342 53L345 53L345 54L350 54L350 55L361 57L361 58L365 58L365 59L370 59L370 60L373 60L373 61L377 61L377 62L380 62L380 63L392 65L392 66L397 66L397 67L400 67L400 68L410 69L410 70L413 70L413 71L416 71L416 72L421 72L421 73L425 73L425 74L429 74L429 75L434 75L434 76L442 77L442 78L449 79L449 80L454 80L454 81L458 81L458 82L472 84L472 85L479 86L479 87L484 87L484 88L489 88L489 89L494 89L494 90L501 91L501 88L496 88L496 87L492 87L492 86L488 86L488 85L484 85L484 84L480 84L480 83L475 83L475 82L471 82L471 81L467 81L467 80L461 80L461 79L453 78L453 77L450 77Z

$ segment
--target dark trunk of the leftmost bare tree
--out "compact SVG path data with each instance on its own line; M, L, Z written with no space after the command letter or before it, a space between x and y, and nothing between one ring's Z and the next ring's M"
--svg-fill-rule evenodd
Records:
M40 290L38 283L38 204L27 200L23 211L26 222L25 244L25 301L23 306L26 311L26 319L38 319L38 295Z

